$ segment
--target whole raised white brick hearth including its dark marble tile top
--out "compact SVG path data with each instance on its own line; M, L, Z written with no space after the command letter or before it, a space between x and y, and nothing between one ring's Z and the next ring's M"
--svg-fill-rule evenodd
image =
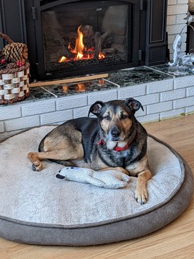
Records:
M97 100L139 100L144 111L138 121L147 123L194 112L194 73L168 65L140 66L111 71L107 78L30 88L22 102L0 105L0 140L33 126L61 124L87 116Z

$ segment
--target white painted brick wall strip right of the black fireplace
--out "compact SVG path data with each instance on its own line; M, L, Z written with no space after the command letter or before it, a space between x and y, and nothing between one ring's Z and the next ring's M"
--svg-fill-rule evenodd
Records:
M170 59L173 59L173 43L176 35L178 35L181 30L186 25L186 13L188 12L188 0L168 0L167 8L167 26L166 31L168 32L169 40L169 51ZM181 46L181 55L186 54L186 31L187 28L183 29L181 33L182 46Z

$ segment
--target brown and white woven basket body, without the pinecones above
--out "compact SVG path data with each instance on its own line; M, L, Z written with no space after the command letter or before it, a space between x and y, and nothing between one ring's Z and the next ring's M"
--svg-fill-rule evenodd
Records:
M30 95L30 64L15 68L10 73L0 73L0 104L8 104L24 100ZM15 72L14 72L15 71Z

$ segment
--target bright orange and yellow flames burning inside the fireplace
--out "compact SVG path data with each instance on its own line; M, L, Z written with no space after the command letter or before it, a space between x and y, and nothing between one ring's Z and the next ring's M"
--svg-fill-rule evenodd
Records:
M82 25L80 25L77 30L78 37L75 39L74 49L71 48L70 43L68 44L68 49L70 50L71 53L75 54L76 56L69 58L69 59L66 56L61 56L61 58L58 61L59 63L94 58L94 54L92 52L95 51L95 48L92 47L90 49L87 49L87 47L85 47L85 45L83 44L83 32L80 31L81 26ZM85 52L87 52L87 53L85 53ZM99 52L98 59L104 59L104 58L105 58L104 54L102 54L102 52Z

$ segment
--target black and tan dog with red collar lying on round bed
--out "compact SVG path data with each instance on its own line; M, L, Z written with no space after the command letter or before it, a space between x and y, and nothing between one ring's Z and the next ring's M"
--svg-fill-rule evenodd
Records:
M88 117L57 126L41 140L39 152L28 153L32 169L40 171L42 159L95 171L115 169L138 177L135 199L145 204L152 173L147 161L147 132L135 118L140 108L142 104L133 98L95 102ZM90 113L97 118L89 117Z

